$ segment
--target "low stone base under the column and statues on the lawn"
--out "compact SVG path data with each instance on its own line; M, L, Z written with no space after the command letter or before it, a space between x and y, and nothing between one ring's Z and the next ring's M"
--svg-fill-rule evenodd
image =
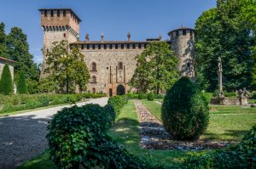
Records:
M212 98L210 104L218 105L247 105L247 98Z

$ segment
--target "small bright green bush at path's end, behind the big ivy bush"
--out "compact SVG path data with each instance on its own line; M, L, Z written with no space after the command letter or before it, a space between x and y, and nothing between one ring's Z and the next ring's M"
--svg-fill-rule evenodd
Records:
M115 116L118 116L122 107L127 103L128 97L123 96L113 96L108 99L108 104L113 107Z

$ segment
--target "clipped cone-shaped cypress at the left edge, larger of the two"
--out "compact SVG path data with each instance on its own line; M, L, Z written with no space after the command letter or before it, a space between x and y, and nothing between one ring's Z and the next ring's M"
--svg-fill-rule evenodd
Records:
M14 93L13 80L11 76L11 72L9 70L9 65L3 66L3 72L0 80L0 93L10 94Z

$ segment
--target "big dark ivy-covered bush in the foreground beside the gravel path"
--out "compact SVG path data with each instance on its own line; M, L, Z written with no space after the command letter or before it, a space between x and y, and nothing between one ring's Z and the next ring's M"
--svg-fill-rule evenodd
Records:
M49 121L47 135L55 164L61 168L142 168L140 161L108 137L110 122L97 104L59 111Z

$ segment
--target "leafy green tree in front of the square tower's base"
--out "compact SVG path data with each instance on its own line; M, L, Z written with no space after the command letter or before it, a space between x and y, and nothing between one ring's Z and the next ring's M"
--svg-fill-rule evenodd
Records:
M89 71L84 64L84 55L78 47L67 52L67 41L55 42L55 47L47 54L46 63L49 67L45 70L59 84L61 93L73 93L78 86L80 92L86 89L89 82Z

